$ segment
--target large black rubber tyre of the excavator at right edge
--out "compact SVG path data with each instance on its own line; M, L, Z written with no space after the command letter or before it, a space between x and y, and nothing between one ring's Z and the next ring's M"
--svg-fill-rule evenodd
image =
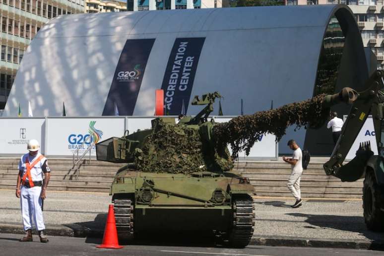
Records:
M364 180L363 187L363 208L364 219L367 228L372 231L384 231L384 208L382 199L383 188L381 188L375 178L373 171L368 171Z

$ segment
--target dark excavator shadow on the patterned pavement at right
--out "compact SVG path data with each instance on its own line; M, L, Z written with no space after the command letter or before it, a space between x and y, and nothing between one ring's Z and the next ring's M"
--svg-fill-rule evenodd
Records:
M383 244L384 233L367 229L362 216L316 215L304 213L286 213L290 216L306 217L305 222L321 228L337 229L362 234L367 239Z

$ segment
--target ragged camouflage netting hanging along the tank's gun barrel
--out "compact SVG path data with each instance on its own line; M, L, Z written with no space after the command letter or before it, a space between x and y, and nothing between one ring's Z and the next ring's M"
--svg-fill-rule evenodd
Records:
M325 94L321 94L310 100L216 124L213 128L215 144L218 148L230 144L232 157L237 158L243 150L248 155L256 140L264 133L275 134L279 141L286 128L291 125L296 125L296 128L319 128L329 117L329 109L322 107L324 96Z

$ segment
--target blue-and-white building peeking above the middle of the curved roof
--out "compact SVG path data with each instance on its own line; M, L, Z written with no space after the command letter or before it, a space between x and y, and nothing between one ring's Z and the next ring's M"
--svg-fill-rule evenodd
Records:
M222 0L127 0L129 11L221 8Z

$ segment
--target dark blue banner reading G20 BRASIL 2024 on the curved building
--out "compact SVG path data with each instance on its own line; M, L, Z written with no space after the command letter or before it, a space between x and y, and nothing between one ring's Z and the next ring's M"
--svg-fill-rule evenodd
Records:
M120 55L103 116L132 116L145 66L155 39L128 39ZM116 106L116 107L115 107Z

